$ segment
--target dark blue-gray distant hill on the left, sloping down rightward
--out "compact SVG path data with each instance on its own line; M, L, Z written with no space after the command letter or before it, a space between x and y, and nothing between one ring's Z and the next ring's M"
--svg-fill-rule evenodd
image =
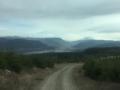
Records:
M43 51L54 49L38 40L28 40L24 38L0 38L0 51Z

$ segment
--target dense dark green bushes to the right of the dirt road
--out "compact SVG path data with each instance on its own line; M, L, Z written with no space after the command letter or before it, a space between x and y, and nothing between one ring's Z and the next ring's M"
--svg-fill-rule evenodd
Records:
M86 61L85 75L96 80L120 82L120 59L104 58Z

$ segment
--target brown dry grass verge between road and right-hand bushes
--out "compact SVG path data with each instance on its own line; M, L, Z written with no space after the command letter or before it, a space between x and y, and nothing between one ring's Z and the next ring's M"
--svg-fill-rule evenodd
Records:
M79 90L120 90L120 83L100 82L84 76L82 65L75 69L75 82Z

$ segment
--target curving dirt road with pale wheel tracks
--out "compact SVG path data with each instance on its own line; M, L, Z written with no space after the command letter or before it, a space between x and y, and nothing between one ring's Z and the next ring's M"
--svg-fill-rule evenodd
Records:
M38 90L78 90L72 77L76 66L77 64L68 64L53 73Z

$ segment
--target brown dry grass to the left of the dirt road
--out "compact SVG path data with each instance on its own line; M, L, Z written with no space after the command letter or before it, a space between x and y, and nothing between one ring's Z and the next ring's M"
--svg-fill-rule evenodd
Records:
M50 69L33 69L20 74L9 71L0 72L0 90L33 90L49 73Z

